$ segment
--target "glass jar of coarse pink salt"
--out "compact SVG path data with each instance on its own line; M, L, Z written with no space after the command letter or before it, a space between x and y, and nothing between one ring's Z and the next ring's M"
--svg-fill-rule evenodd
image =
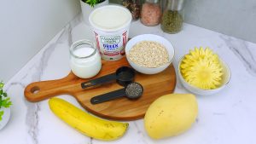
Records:
M159 0L146 0L141 11L141 22L145 26L156 26L160 24L162 11Z

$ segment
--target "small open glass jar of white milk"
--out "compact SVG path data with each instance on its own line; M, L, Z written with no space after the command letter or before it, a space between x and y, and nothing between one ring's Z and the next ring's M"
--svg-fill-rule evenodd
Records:
M69 52L71 70L79 78L92 78L100 72L102 60L95 43L79 40L72 44Z

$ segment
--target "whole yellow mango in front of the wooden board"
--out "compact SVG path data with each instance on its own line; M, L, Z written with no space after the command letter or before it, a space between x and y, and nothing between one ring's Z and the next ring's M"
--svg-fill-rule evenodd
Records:
M179 135L195 123L198 105L195 95L170 94L155 100L144 117L144 126L151 138Z

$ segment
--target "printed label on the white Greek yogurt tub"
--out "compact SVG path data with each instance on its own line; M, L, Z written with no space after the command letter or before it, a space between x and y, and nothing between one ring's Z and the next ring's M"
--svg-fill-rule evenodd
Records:
M108 35L100 32L94 32L96 47L99 49L102 59L119 60L125 55L125 44L128 40L127 31Z

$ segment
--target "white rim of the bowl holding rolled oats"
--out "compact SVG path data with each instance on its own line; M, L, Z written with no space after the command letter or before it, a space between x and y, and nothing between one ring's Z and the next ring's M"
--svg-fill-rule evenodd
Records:
M172 55L172 57L171 57L171 60L170 60L170 58L169 58L169 60L168 60L168 62L166 62L166 64L164 64L164 65L162 65L162 66L159 66L159 67L145 67L145 66L140 66L140 67L143 67L143 68L148 68L148 69L156 69L156 68L161 68L161 67L168 67L168 66L170 66L171 64L172 64L172 61L173 61L173 59L174 59L174 56L175 56L175 49L174 49L174 46L172 45L172 43L168 40L168 39L166 39L166 37L161 37L161 36L159 36L159 35L155 35L155 34L140 34L140 35L137 35L136 37L143 37L143 36L153 36L153 37L160 37L160 38L162 38L162 39L165 39L166 40L166 42L168 42L168 43L170 43L170 45L172 46L172 50L173 50L173 55ZM133 62L130 58L129 58L129 56L127 55L128 53L128 51L126 50L126 46L127 46L127 44L128 43L131 43L131 40L132 39L134 39L134 38L136 38L136 37L132 37L126 44L125 44L125 57L126 57L126 59L128 59L128 60L130 60L131 62ZM154 41L154 40L147 40L147 39L144 39L144 40L141 40L141 41L137 41L137 43L139 43L139 42L142 42L142 41ZM157 42L157 41L154 41L154 42ZM137 43L135 43L135 44L137 44ZM157 42L157 43L159 43L159 42ZM162 43L160 43L160 44L162 44ZM164 45L165 46L165 45ZM131 47L132 48L132 47ZM165 48L166 48L166 46L165 46ZM131 49L130 49L131 50ZM129 51L130 51L129 50ZM166 50L168 50L167 48L166 48ZM169 52L168 52L168 55L169 55ZM170 55L169 55L170 56ZM134 64L136 64L135 62L133 62ZM136 64L137 65L137 64ZM139 66L139 65L137 65L137 66Z

